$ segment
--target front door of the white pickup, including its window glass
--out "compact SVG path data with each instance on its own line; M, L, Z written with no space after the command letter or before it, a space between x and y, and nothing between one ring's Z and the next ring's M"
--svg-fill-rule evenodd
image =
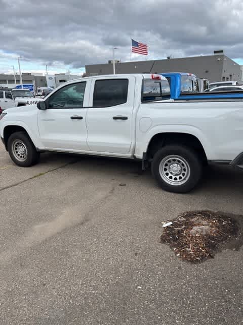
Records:
M88 151L86 113L91 81L68 84L46 100L38 111L38 128L45 148L60 151Z

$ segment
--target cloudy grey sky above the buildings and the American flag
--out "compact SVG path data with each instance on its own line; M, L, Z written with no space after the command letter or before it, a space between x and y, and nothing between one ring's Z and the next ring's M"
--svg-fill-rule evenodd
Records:
M243 64L242 0L0 0L0 73L21 56L23 72L84 72L85 64L130 60L131 38L147 57L213 54Z

